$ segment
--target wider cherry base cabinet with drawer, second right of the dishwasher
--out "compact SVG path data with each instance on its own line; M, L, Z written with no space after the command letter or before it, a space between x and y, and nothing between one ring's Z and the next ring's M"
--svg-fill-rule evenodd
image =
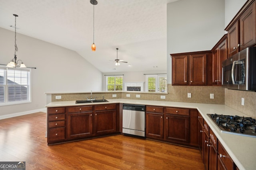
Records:
M189 143L189 109L166 107L164 139L179 143Z

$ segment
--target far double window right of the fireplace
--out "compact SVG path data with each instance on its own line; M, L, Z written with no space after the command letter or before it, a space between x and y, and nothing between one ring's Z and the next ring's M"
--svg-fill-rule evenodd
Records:
M167 92L167 75L146 75L146 92Z

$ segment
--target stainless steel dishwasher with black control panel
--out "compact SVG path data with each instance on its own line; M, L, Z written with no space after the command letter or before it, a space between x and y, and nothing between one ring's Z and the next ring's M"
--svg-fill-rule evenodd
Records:
M126 135L145 137L145 106L123 104L123 131Z

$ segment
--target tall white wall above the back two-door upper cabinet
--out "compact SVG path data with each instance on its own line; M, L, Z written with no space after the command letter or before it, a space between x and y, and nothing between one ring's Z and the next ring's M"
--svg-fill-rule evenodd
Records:
M224 0L179 0L167 4L167 79L170 54L211 50L224 35Z

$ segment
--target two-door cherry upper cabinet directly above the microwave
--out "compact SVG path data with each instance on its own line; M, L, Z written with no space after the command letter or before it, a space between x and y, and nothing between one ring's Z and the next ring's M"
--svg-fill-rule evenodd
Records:
M228 31L228 57L256 44L255 1L249 0L225 28Z

